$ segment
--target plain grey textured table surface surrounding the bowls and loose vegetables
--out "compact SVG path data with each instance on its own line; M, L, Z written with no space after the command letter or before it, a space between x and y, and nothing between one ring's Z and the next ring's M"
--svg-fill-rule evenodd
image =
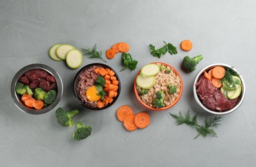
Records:
M0 1L0 166L255 166L256 159L256 1ZM181 51L184 39L193 42ZM177 46L177 55L160 59L150 55L163 40ZM104 53L116 42L130 44L138 60L135 71L118 72L122 90L112 107L86 110L75 101L72 82L79 69L48 57L57 43L75 48L95 43ZM190 74L181 70L182 58L202 54L203 60ZM103 54L104 55L104 54ZM133 93L133 79L150 62L166 62L181 73L184 92L171 109L150 111ZM101 62L84 57L83 66ZM186 125L177 127L169 112L198 114L199 122L212 116L195 102L192 84L202 67L212 63L234 66L246 82L246 98L235 112L222 116L218 137L197 137ZM79 109L75 121L91 125L92 135L74 141L75 126L61 127L55 109L41 115L21 112L10 96L15 73L28 64L53 67L64 84L63 97L55 107ZM117 55L106 63L119 71ZM150 126L128 132L115 111L130 105L134 112L150 114Z

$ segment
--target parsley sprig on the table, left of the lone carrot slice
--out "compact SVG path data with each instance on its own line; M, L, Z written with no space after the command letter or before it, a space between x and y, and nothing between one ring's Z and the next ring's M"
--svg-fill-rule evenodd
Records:
M161 58L161 55L165 55L165 53L167 51L168 51L168 53L170 53L170 55L175 55L178 53L177 48L175 46L173 46L171 43L167 44L166 42L164 42L164 44L165 45L159 49L155 49L155 46L150 44L151 55L153 55L153 57Z

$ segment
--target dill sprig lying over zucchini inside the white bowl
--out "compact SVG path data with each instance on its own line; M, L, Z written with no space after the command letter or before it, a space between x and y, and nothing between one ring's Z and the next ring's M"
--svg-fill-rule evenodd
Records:
M221 79L225 91L233 91L237 88L237 85L241 85L241 81L233 76L239 76L239 74L232 68L226 67L225 76Z

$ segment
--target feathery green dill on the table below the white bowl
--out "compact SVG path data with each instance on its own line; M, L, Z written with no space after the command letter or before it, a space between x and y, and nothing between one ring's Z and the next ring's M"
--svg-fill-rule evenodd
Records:
M188 110L187 114L183 116L181 112L179 112L179 115L171 114L170 115L176 120L176 125L186 124L192 128L195 128L197 130L198 135L195 136L195 139L202 135L203 137L211 136L211 137L217 137L217 134L215 133L213 128L218 127L219 121L221 121L220 116L211 117L209 119L204 119L204 124L199 125L197 123L197 114L195 114L193 117L190 115L190 110Z

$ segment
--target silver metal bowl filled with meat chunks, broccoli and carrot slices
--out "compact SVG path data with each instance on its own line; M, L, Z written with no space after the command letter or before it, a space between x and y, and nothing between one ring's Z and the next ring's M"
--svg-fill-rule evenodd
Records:
M61 100L63 82L52 67L30 64L20 69L11 84L15 105L28 114L44 114Z

